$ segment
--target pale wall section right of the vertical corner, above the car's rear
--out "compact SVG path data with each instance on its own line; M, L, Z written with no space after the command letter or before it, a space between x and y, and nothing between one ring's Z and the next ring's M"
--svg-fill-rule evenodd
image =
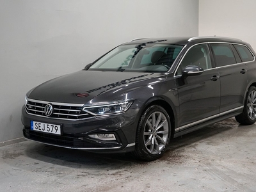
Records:
M199 36L239 38L256 51L255 0L199 0Z

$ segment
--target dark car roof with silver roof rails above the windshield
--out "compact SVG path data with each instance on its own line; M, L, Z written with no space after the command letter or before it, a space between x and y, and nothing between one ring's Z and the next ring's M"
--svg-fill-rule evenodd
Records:
M159 43L159 44L186 45L189 43L197 44L201 42L230 42L230 43L241 44L242 40L239 40L237 38L228 38L228 37L220 37L220 36L194 36L194 37L190 36L190 37L165 37L165 38L136 38L126 44Z

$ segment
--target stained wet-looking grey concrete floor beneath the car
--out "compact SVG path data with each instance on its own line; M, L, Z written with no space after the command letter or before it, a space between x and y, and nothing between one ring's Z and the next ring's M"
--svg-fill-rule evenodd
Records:
M256 125L234 118L141 162L24 141L0 147L0 191L256 191Z

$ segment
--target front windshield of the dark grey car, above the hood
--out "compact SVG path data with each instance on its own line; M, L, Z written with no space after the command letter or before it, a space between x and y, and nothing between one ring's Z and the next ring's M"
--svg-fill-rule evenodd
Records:
M182 47L168 44L120 45L93 63L88 70L166 72Z

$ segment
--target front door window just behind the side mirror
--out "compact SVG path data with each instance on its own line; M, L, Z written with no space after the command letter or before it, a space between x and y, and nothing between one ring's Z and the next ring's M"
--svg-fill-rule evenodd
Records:
M188 65L196 65L204 70L212 68L211 58L207 44L195 45L186 53L177 70L177 76L182 74L182 70Z

